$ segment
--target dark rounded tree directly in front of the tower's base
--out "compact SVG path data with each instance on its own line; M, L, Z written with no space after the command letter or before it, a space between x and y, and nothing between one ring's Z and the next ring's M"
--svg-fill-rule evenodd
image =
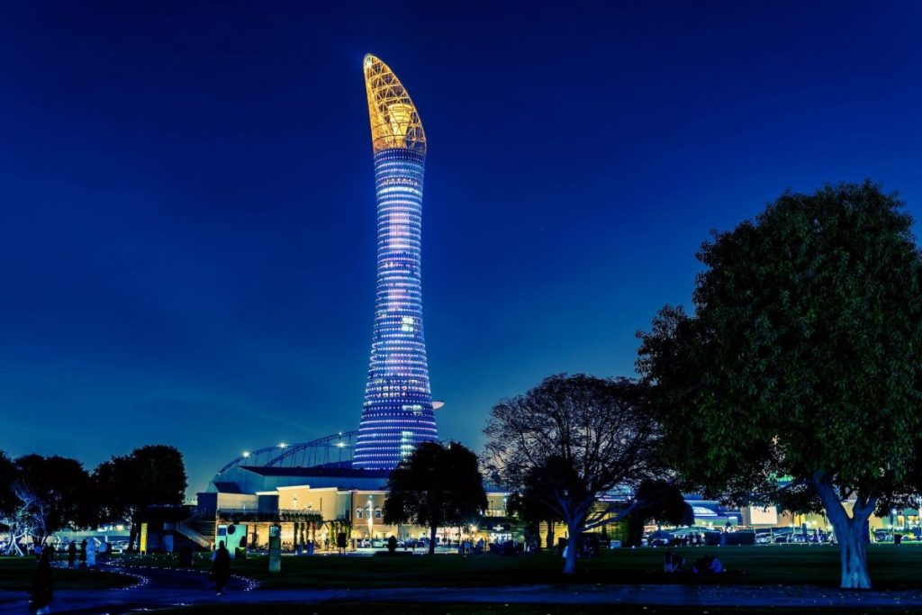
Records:
M384 523L428 526L431 554L439 526L470 522L486 507L477 455L463 444L427 442L417 446L388 477Z

